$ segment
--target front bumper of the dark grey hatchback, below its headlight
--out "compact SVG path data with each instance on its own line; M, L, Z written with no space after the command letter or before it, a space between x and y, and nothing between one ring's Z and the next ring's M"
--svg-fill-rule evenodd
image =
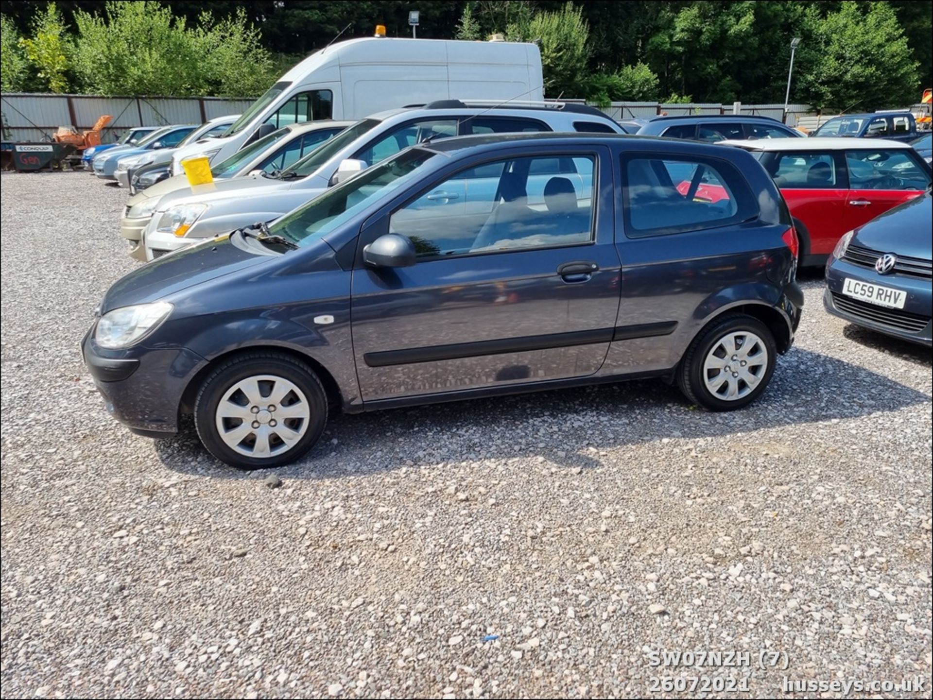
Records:
M81 355L107 412L132 432L178 432L182 395L203 358L185 348L104 350L94 342L93 330L84 336Z

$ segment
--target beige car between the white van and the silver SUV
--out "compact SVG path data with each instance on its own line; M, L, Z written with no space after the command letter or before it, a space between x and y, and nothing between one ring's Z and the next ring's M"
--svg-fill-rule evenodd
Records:
M304 158L320 144L353 123L352 121L323 119L289 124L244 146L230 158L211 166L211 172L218 180L249 175L273 177L276 172L283 171L297 162L299 158ZM271 182L275 181L271 180ZM185 175L176 175L147 187L127 199L123 217L119 222L119 235L130 244L132 258L146 261L146 247L142 242L143 230L156 211L160 199L170 192L188 186L190 185Z

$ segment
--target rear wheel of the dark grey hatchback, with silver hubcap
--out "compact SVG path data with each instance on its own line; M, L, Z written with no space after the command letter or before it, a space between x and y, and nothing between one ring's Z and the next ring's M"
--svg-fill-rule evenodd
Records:
M677 383L690 401L731 411L755 401L774 374L777 348L758 319L730 314L710 323L690 344Z

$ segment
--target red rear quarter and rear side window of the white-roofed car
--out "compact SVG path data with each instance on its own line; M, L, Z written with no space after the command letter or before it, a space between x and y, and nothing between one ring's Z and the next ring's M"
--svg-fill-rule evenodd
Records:
M805 255L829 254L848 228L845 224L848 185L839 152L788 151L767 163L774 184L802 226Z

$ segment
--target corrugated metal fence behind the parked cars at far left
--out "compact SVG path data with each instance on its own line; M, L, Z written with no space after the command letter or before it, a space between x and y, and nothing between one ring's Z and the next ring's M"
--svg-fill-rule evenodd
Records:
M214 117L241 114L250 99L219 97L99 97L4 93L0 101L4 141L51 141L59 127L91 129L102 115L114 117L101 135L104 144L132 127L201 124Z

